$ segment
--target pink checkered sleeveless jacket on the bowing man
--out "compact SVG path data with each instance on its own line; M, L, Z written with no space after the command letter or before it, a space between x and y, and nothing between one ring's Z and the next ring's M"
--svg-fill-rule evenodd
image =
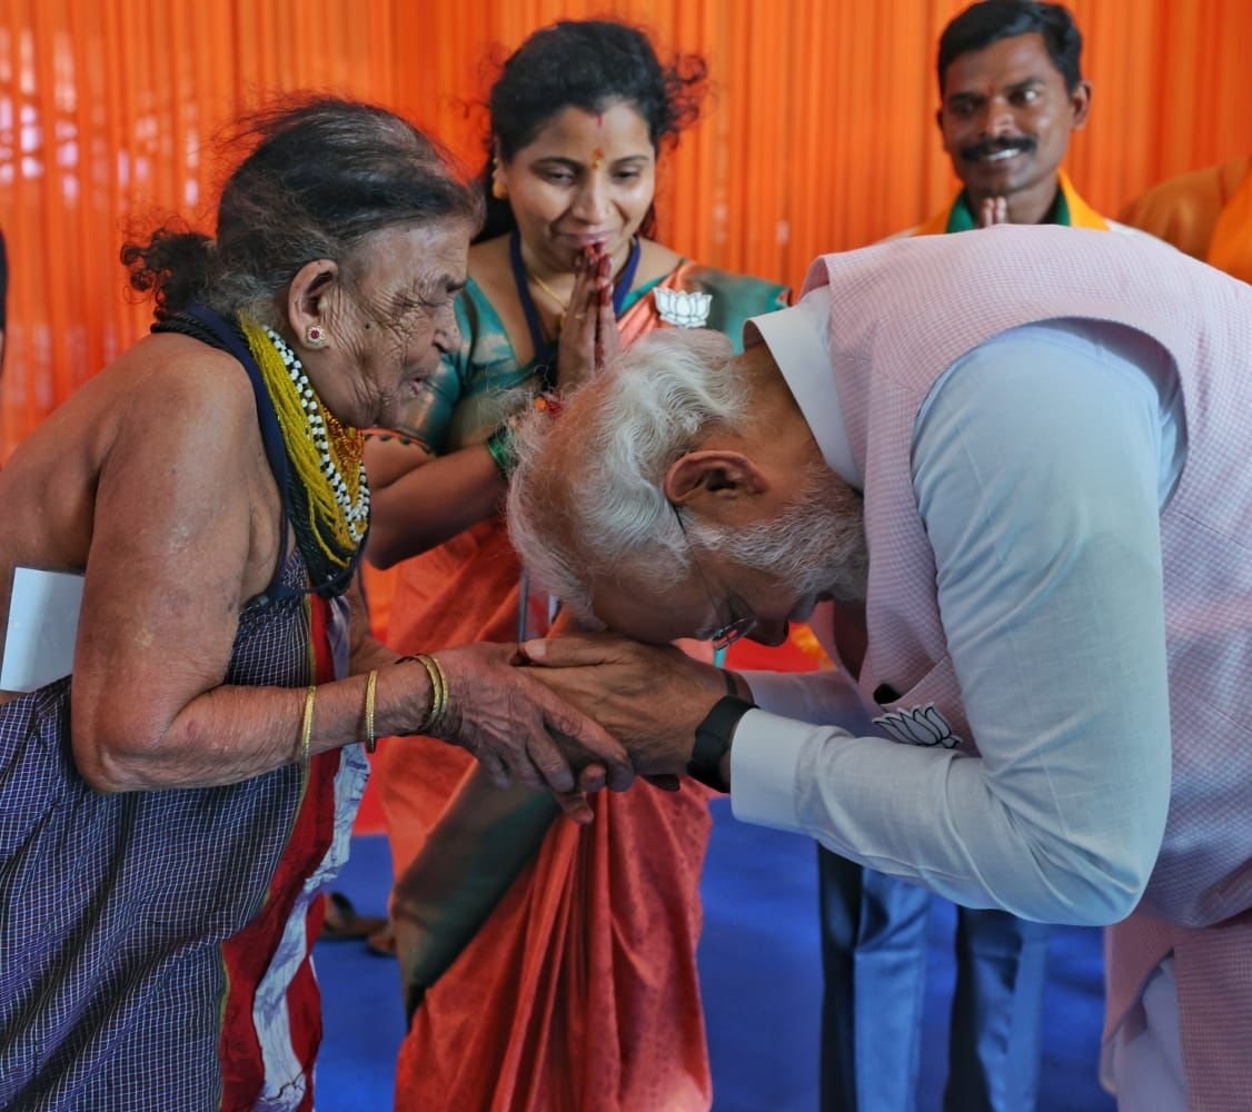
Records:
M805 292L819 286L865 476L861 695L873 706L890 681L905 694L888 711L934 701L964 738L911 483L921 402L957 358L1032 322L1108 321L1173 356L1188 445L1161 516L1173 781L1147 893L1108 932L1106 1032L1172 950L1191 1107L1252 1108L1252 288L1147 238L1014 225L825 255Z

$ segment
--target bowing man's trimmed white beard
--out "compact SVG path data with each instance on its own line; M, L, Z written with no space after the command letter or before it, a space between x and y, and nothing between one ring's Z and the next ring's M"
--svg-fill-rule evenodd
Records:
M805 470L795 498L771 521L691 532L702 547L785 584L800 600L798 614L808 614L819 596L865 601L869 550L861 501L821 463Z

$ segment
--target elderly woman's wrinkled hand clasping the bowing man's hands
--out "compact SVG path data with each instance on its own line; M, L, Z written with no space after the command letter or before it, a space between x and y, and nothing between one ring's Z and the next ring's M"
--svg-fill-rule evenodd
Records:
M626 750L593 719L516 667L515 645L466 645L437 654L448 680L438 735L476 756L492 781L547 788L567 810L580 788L634 780ZM560 739L560 740L558 740ZM587 776L580 776L583 769Z

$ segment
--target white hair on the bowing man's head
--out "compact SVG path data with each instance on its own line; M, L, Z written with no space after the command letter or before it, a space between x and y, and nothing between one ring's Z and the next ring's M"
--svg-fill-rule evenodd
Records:
M736 427L747 388L717 332L661 329L516 430L508 528L522 562L583 621L596 584L686 571L691 552L665 496L670 466L714 427ZM661 564L660 561L664 561Z

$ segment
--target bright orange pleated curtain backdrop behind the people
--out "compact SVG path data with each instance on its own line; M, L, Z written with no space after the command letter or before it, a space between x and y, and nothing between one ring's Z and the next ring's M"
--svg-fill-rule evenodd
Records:
M146 328L128 225L212 229L212 140L267 94L387 104L477 170L490 60L562 16L697 51L712 95L666 160L660 234L798 284L823 250L916 223L953 185L934 53L962 0L0 0L0 227L11 265L0 458ZM1069 169L1098 209L1252 150L1247 0L1075 0L1092 121Z

